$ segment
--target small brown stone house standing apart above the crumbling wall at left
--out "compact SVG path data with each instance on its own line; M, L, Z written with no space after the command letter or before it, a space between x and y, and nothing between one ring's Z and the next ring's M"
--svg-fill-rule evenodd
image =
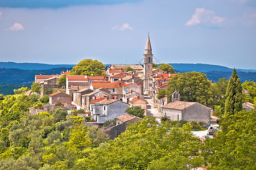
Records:
M72 96L65 94L64 92L61 92L61 91L49 95L49 104L56 104L58 102L61 102L64 105L71 105Z

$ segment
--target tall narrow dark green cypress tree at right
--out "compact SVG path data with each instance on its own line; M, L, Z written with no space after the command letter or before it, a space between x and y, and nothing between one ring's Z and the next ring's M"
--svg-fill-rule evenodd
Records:
M222 118L222 130L232 124L234 114L242 111L242 85L234 69L226 88L225 114Z

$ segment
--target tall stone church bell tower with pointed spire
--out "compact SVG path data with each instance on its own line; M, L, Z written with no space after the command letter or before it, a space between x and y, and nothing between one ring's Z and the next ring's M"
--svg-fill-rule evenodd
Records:
M144 89L148 88L148 75L152 74L153 70L153 54L150 44L149 34L147 35L147 43L145 47L144 56Z

